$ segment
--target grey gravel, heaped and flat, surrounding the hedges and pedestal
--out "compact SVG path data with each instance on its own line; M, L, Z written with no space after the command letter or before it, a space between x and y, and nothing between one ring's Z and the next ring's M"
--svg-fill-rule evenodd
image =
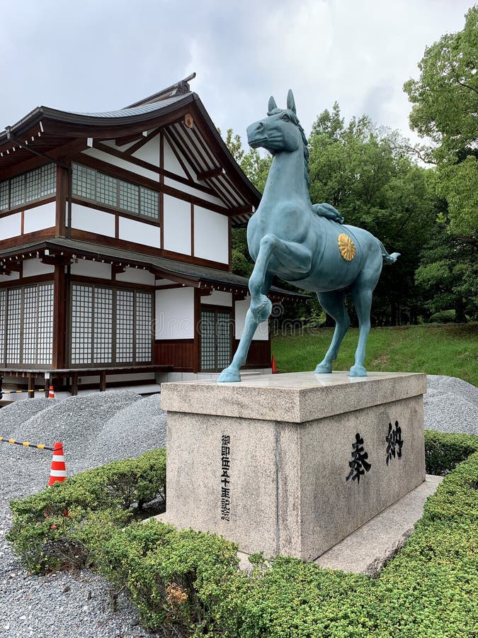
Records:
M461 379L428 376L425 427L478 435L478 389ZM69 476L116 459L163 447L166 414L159 395L140 398L111 391L67 398L26 399L0 410L0 435L33 443L64 444ZM147 637L125 596L116 612L109 585L89 570L29 576L4 536L8 502L45 487L50 452L0 444L0 638ZM159 634L157 634L159 635Z

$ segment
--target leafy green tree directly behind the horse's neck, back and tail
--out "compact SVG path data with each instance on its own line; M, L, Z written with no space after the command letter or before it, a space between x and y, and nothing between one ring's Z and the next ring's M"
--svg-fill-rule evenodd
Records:
M414 273L428 241L433 209L425 169L412 161L408 143L394 131L377 129L368 116L346 125L335 103L312 127L310 195L338 208L346 223L379 237L401 257L384 267L375 291L376 324L416 321L421 299Z

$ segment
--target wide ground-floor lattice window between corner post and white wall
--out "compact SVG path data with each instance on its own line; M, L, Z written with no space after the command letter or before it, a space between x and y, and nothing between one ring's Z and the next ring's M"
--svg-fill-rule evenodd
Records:
M137 364L152 359L152 293L72 284L71 364Z

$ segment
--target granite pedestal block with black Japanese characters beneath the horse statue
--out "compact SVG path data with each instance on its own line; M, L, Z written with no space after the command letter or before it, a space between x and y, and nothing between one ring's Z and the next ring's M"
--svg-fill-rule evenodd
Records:
M425 480L426 375L163 384L167 509L246 553L314 560Z

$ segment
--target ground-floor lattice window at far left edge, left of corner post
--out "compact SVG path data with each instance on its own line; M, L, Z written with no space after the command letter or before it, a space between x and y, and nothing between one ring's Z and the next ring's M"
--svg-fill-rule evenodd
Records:
M53 345L53 284L0 291L0 362L49 366Z

